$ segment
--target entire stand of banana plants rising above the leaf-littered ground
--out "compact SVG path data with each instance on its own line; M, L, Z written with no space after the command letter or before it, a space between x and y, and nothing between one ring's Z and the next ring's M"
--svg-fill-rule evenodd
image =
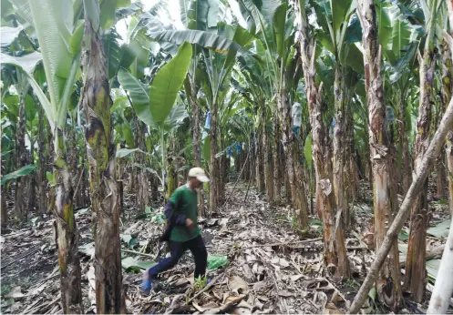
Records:
M373 190L379 249L397 194L413 170L427 171L438 127L449 132L438 139L447 141L437 197L453 207L451 118L441 123L451 117L451 2L180 0L180 29L163 18L171 5L2 1L2 226L33 211L55 215L65 312L83 311L74 209L93 213L97 311L124 312L123 190L143 210L192 166L209 167L211 178L201 216L224 204L232 159L268 202L286 198L297 229L315 207L336 280L351 277L345 233L359 181ZM396 239L376 280L391 310L404 290L426 297L429 218L425 180L404 288Z

